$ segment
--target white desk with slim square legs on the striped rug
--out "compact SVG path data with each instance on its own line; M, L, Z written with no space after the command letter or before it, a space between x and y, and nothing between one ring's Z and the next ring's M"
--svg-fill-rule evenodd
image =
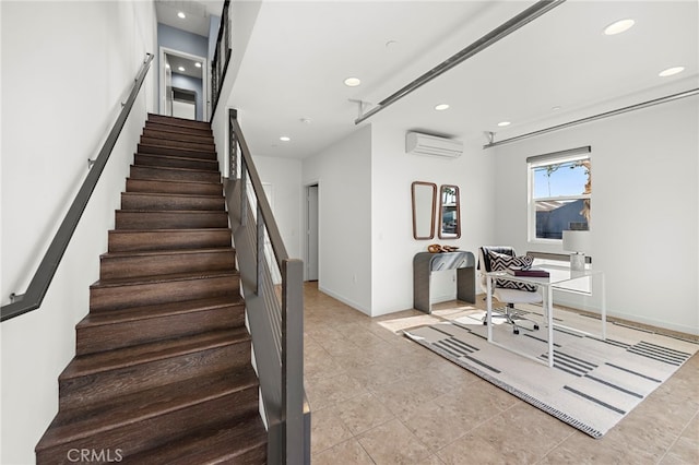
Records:
M486 273L486 283L487 283L487 295L486 295L486 301L487 301L487 318L486 318L486 322L488 325L488 342L491 344L495 344L499 347L502 347L507 350L511 350L514 351L516 354L519 354L521 356L531 358L532 360L536 360L538 362L543 362L540 358L531 356L529 354L523 354L521 351L517 351L514 349L512 349L511 347L505 346L502 344L497 343L496 341L493 341L493 286L495 284L494 279L507 279L507 281L513 281L513 282L518 282L518 283L525 283L525 284L533 284L535 286L538 286L540 290L542 291L542 297L543 297L543 309L544 309L544 324L546 326L546 331L548 333L547 335L547 342L548 342L548 366L553 367L554 366L554 326L556 327L564 327L570 331L576 331L578 333L582 333L582 334L588 334L588 335L593 335L593 336L601 336L603 339L606 339L606 320L607 320L607 313L606 313L606 297L605 297L605 290L604 290L604 273L601 271L595 271L595 270L585 270L585 271L571 271L568 267L565 266L555 266L555 265L544 265L544 266L536 266L537 269L544 269L549 273L549 277L529 277L529 276L513 276L505 271L499 271L499 272L490 272L490 273ZM601 320L602 320L602 331L600 334L591 334L588 333L585 331L581 331L579 329L576 327L570 327L570 326L564 326L561 324L555 324L554 323L554 289L559 290L559 291L564 291L564 293L572 293L572 294L592 294L593 290L593 284L594 284L594 278L597 278L600 281L599 284L599 289L596 289L596 291L600 293L600 298L601 298ZM587 281L589 284L589 290L585 289L585 286L580 286L580 281ZM584 283L582 283L584 284ZM596 294L596 293L595 293Z

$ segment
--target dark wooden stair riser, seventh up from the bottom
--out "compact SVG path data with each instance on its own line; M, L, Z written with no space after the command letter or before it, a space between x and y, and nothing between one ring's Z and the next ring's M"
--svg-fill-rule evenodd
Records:
M227 228L225 212L123 212L116 214L117 229Z

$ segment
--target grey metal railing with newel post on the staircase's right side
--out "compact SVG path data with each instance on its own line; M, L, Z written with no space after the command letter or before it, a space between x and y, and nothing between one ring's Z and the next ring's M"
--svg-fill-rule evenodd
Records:
M228 121L226 204L268 426L268 463L309 464L304 262L288 258L236 110Z

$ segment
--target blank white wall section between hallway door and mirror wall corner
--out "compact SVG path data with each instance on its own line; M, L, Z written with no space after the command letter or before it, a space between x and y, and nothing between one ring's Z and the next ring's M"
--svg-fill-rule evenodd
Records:
M303 183L318 183L319 289L371 314L371 127L305 158Z

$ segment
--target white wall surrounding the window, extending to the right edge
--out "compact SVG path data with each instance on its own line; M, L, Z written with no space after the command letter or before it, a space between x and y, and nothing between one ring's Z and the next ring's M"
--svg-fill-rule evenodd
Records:
M699 98L488 150L497 158L497 241L526 240L528 156L591 145L593 264L609 314L699 334Z

